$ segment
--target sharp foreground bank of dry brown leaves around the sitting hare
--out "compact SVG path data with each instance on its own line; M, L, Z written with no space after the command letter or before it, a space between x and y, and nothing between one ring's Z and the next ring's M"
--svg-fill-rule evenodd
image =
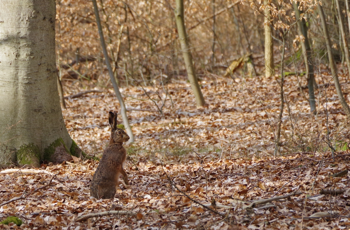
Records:
M330 155L329 155L330 156ZM328 157L329 157L328 156ZM191 164L128 162L130 187L120 187L114 200L96 200L89 197L89 180L96 169L95 162L46 166L58 173L52 184L26 200L0 208L0 215L19 216L25 224L17 229L344 229L350 225L348 201L350 193L339 196L320 195L321 188L348 188L347 177L329 176L346 167L347 158L333 162L322 155L301 155L270 159L231 159L219 162L204 161ZM44 166L43 166L44 167ZM232 207L215 208L226 218L210 213L170 186L169 178L191 198L204 205ZM1 174L1 202L44 185L51 176L45 173ZM294 179L294 180L293 180ZM260 200L293 191L302 195L260 205L248 211L238 202L249 205ZM260 208L265 206L264 208ZM110 215L75 222L85 214L109 210L132 211L136 215ZM307 218L327 212L333 216ZM337 215L336 215L337 214ZM316 214L315 214L316 215ZM318 214L320 215L320 214ZM323 213L324 215L324 213ZM340 216L339 216L340 215ZM304 217L304 218L303 218ZM312 217L312 216L311 216ZM222 220L222 221L220 221Z

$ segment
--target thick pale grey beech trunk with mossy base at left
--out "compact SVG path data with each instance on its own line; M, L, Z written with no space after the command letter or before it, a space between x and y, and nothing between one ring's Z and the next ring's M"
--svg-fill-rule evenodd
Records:
M81 151L59 105L55 1L1 3L0 165L70 160Z

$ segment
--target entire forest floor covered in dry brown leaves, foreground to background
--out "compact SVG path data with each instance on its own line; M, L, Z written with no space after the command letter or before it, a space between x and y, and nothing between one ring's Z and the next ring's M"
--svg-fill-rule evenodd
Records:
M319 84L330 80L327 72L317 78ZM342 74L340 80L346 96L347 80ZM299 81L306 85L303 77ZM286 77L278 156L280 89L274 78L201 76L207 102L201 109L189 83L173 79L165 85L162 113L155 106L165 98L161 85L124 87L135 135L135 143L125 144L130 186L120 185L114 200L90 198L98 165L91 159L43 164L36 173L0 173L0 220L14 215L23 221L0 228L349 229L349 176L331 177L349 168L346 116L332 82L315 92L316 116L303 97L307 89L297 82L295 75ZM103 91L68 98L63 111L71 137L89 156L102 155L110 136L108 112L120 110L105 84L64 82L65 96ZM321 194L326 188L338 194ZM269 198L276 200L262 200ZM114 213L80 218L105 211Z

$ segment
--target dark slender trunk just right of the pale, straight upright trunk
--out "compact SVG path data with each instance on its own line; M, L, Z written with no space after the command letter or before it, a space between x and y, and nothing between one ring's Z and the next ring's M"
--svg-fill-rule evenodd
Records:
M311 49L309 44L309 38L307 35L306 22L304 18L300 19L300 10L295 1L293 2L294 12L297 21L298 34L304 36L304 41L301 42L301 49L303 51L304 64L307 74L307 84L309 89L309 103L310 103L310 111L313 114L316 114L316 101L315 101L315 91L314 91L314 66L311 62Z

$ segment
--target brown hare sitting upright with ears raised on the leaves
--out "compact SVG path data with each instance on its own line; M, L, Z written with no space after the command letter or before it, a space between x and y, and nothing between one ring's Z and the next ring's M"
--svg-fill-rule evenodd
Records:
M116 186L119 186L120 175L126 185L129 185L128 177L124 171L126 150L123 142L130 138L123 129L117 128L117 112L109 112L108 121L112 128L111 139L103 151L102 159L91 180L90 194L97 199L113 199L116 194Z

